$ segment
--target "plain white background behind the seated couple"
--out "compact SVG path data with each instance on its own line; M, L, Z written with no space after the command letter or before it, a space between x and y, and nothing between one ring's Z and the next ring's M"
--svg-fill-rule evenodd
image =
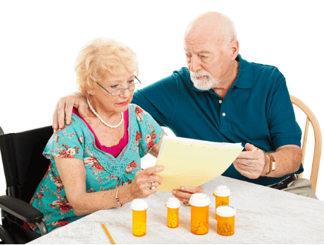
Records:
M78 51L113 37L139 58L142 86L186 66L182 34L205 11L235 22L242 58L275 65L289 93L315 113L322 130L323 1L0 1L0 125L20 132L51 125L56 101L74 92ZM297 113L297 111L296 111ZM297 113L304 130L305 119ZM167 131L170 134L170 131ZM313 131L304 177L310 177ZM143 158L144 166L155 158ZM0 164L0 195L5 180ZM324 201L324 166L316 194Z

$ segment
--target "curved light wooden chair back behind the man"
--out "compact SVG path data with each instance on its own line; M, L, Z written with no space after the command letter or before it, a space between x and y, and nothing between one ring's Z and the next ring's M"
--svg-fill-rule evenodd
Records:
M303 158L301 159L301 163L304 166L304 158L305 158L305 152L306 152L306 142L307 137L309 134L309 122L311 122L311 125L313 127L314 131L314 139L315 139L315 147L314 147L314 154L313 154L313 165L311 166L311 182L312 182L312 188L314 193L316 192L316 184L317 184L317 177L318 177L318 168L320 167L320 154L322 152L322 134L320 132L320 124L318 123L318 120L316 119L315 114L309 106L306 106L306 104L297 99L295 96L290 95L290 100L292 101L293 105L296 105L301 109L301 111L304 111L306 114L306 125L304 130L304 137L303 137L303 144L301 145L301 151L303 153ZM301 177L302 173L298 175L298 177Z

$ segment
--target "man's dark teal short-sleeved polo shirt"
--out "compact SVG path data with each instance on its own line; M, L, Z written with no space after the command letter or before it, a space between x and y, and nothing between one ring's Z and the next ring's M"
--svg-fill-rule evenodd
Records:
M301 144L285 77L278 68L250 63L237 56L239 75L225 98L213 89L201 91L190 80L189 70L175 70L134 94L137 103L176 136L209 142L254 144L263 151L275 151L286 144ZM299 171L302 172L302 165ZM238 180L268 185L287 176L249 179L234 165L223 173Z

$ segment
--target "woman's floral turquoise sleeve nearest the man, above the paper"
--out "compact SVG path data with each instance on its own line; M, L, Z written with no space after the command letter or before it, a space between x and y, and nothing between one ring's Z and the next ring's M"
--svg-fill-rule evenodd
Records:
M139 148L139 156L142 158L160 142L164 130L149 113L139 106L135 106L135 114L139 125L139 130L136 132L136 141Z

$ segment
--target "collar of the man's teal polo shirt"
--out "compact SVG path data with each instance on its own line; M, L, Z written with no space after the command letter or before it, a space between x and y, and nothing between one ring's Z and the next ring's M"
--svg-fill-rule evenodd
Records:
M252 67L249 64L249 62L242 59L241 55L238 54L237 61L239 61L239 75L237 76L237 79L233 86L239 88L239 89L251 89L252 87L252 80L253 80L253 73L252 73ZM189 72L189 70L188 70ZM198 92L206 92L205 90L200 90L194 87L194 83L192 82L192 90L198 91ZM209 89L208 91L213 91L213 89Z

